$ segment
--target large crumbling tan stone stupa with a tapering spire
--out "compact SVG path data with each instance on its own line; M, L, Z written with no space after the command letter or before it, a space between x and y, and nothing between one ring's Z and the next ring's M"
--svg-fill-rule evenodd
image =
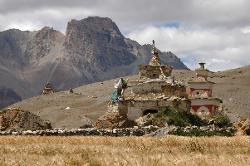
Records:
M122 100L109 103L108 112L119 112L129 120L135 120L167 106L190 110L185 86L171 77L171 66L161 65L154 41L152 53L149 65L139 65L139 79L129 81L130 88Z

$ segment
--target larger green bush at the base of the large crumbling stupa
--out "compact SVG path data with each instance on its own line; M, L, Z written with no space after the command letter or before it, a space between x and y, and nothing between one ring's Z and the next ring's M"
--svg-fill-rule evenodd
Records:
M164 126L165 123L168 125L175 125L185 127L189 125L203 126L206 123L197 115L193 115L189 112L184 112L174 107L162 108L158 113L155 114L153 125Z

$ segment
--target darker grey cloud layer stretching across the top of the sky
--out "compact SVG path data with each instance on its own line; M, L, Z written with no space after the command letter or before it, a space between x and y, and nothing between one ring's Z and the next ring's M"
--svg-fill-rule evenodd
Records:
M123 31L168 22L181 22L206 27L238 27L250 21L248 0L0 0L0 16L22 16L22 19L58 24L53 13L60 13L60 23L69 17L84 18L99 15L112 18ZM48 11L41 16L40 12ZM9 21L5 19L5 26ZM6 21L7 20L7 21ZM2 29L5 29L2 25ZM60 29L63 29L63 25ZM65 27L64 27L65 28Z

